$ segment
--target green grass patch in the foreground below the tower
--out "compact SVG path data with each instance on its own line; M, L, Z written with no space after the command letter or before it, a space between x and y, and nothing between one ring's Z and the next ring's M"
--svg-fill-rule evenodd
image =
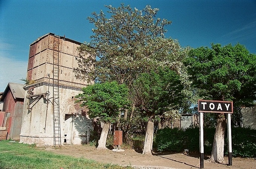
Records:
M0 169L132 169L112 164L102 164L85 158L57 155L38 150L35 146L0 141Z

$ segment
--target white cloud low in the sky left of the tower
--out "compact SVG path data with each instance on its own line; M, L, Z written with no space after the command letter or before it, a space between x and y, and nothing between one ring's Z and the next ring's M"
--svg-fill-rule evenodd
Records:
M21 78L26 78L27 61L12 59L14 57L0 53L0 92L3 92L9 82L22 84Z

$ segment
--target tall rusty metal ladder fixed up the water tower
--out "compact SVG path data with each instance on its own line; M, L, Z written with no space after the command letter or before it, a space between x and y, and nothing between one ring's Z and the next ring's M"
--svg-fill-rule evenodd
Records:
M53 139L54 147L61 147L59 115L59 36L53 35Z

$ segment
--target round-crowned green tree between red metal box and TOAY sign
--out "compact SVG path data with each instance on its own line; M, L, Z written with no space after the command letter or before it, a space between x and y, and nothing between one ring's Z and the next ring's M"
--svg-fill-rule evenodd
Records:
M143 73L134 81L131 100L147 121L142 154L152 153L154 119L157 115L180 109L182 90L180 76L169 68L158 68L157 72Z

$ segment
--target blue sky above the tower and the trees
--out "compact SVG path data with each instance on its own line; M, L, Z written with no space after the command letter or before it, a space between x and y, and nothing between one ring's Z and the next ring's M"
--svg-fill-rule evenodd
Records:
M29 45L49 32L89 42L92 12L120 6L159 8L166 37L193 48L240 43L256 53L256 0L0 0L0 92L26 78Z

